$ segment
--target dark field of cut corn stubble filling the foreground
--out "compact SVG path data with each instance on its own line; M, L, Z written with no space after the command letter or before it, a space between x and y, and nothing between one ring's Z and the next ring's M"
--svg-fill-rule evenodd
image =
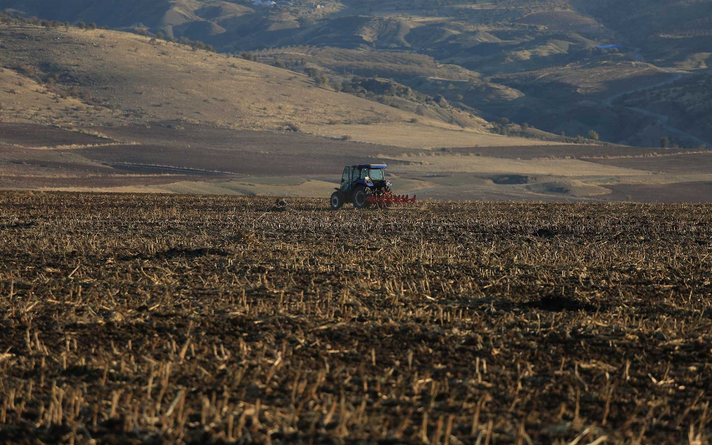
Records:
M0 195L8 443L703 444L712 208Z

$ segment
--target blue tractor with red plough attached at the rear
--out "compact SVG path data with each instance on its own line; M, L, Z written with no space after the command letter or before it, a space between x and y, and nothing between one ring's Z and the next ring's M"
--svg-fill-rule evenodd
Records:
M415 203L415 196L394 195L392 183L385 178L385 164L357 164L346 166L341 177L341 187L331 194L331 208L338 210L351 201L355 208L375 205L379 208L392 204Z

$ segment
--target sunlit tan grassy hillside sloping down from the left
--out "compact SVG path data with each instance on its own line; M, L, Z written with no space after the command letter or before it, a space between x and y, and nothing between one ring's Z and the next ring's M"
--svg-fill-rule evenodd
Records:
M354 138L372 143L382 142L378 133L385 126L392 135L402 133L406 146L417 146L420 137L452 146L482 143L478 138L497 143L485 121L463 111L443 110L445 121L457 118L459 125L453 125L337 93L285 69L134 34L11 26L0 28L0 39L6 121L56 126L182 121L335 137L347 134L335 134L335 127L353 125L359 128Z

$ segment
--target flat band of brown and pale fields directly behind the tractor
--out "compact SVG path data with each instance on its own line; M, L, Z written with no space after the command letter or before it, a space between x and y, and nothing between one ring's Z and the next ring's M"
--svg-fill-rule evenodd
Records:
M326 200L338 185L343 165L385 162L395 193L417 194L419 200L706 202L712 198L712 190L707 190L712 174L704 173L706 153L657 153L612 145L440 150L303 133L184 127L117 126L102 128L104 138L99 138L86 132L5 123L0 125L0 188ZM691 164L696 168L685 173ZM683 183L688 185L678 186Z

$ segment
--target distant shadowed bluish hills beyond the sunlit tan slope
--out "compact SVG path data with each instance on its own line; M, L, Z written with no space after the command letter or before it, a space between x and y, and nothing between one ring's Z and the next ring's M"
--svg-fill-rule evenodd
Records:
M431 98L442 96L465 114L432 109L422 116L458 126L472 127L467 116L506 118L556 135L595 131L611 143L649 144L645 134L655 119L601 106L600 98L621 93L626 83L657 83L664 74L660 67L700 70L712 63L711 0L338 0L320 7L306 0L274 6L248 0L70 0L49 6L3 0L0 5L25 16L95 22L169 41L192 39L222 53L249 52L250 58L284 63L299 73L317 69L330 84L353 75L379 76ZM596 48L606 44L616 47ZM605 63L609 67L599 69ZM626 63L649 63L648 71L659 76ZM551 71L566 79L552 82L544 75ZM598 86L589 88L591 83ZM402 98L370 99L410 112L419 105ZM591 118L591 101L599 103L595 113L604 118ZM678 130L663 128L661 135L673 138Z

